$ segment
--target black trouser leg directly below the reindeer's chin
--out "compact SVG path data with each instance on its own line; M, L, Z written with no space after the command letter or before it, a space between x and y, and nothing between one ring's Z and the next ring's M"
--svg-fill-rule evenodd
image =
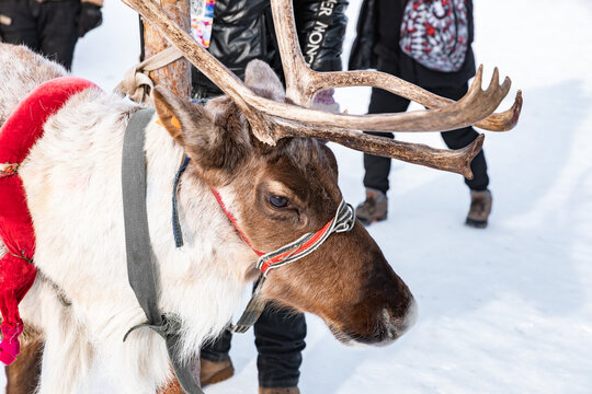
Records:
M267 305L254 325L261 387L295 387L306 337L303 313Z

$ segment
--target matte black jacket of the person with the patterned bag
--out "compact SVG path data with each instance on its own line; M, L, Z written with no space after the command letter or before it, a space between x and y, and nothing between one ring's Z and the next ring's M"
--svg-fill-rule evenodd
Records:
M375 68L422 88L456 86L475 77L473 0L467 0L469 47L456 72L423 67L399 47L399 31L407 0L364 0L357 19L357 36L350 54L349 69Z

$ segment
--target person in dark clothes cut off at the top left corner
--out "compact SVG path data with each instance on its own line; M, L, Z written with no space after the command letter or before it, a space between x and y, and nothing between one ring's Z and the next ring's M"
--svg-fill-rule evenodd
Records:
M70 70L79 37L101 25L103 0L1 0L0 40L23 44Z

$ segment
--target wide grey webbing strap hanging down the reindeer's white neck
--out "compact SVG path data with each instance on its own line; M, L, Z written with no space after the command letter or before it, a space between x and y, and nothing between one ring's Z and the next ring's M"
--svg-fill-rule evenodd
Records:
M162 336L171 364L183 391L187 394L203 394L187 364L179 357L179 318L162 315L157 304L157 281L151 258L148 212L146 208L146 157L144 152L145 129L155 114L153 108L136 112L125 130L122 159L122 190L125 221L125 247L127 253L127 276L148 321L139 327L149 327Z

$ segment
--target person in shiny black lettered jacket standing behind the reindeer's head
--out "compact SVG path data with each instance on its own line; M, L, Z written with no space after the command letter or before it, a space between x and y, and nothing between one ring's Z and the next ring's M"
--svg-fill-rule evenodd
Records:
M294 0L298 39L306 62L317 71L341 70L348 0ZM266 61L283 78L269 0L216 0L208 50L239 78L249 61ZM192 70L192 96L207 100L221 94L198 70ZM337 112L333 90L319 92L314 107ZM267 305L253 326L258 349L260 394L298 394L299 367L305 348L303 313ZM231 334L226 331L215 343L201 349L202 385L229 379ZM167 394L179 387L164 389Z

